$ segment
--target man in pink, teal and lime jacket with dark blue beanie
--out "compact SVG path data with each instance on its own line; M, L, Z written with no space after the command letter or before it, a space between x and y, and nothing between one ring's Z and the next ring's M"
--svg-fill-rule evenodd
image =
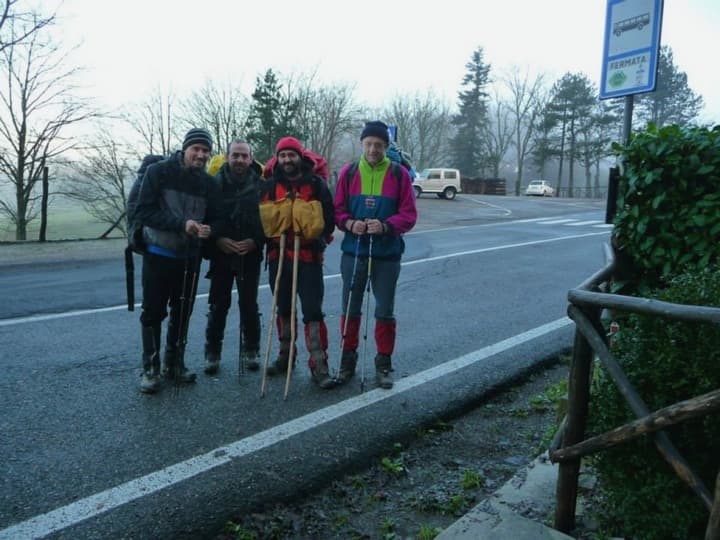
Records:
M367 122L360 135L362 156L340 170L335 189L335 219L345 231L340 261L342 358L337 380L341 384L355 374L363 291L369 277L375 299L376 382L381 388L393 386L395 289L405 251L402 235L415 226L417 209L409 172L385 155L389 142L387 125Z

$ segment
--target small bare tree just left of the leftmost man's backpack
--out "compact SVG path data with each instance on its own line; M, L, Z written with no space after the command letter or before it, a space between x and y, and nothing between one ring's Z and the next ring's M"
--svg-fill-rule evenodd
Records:
M99 222L124 231L122 217L137 159L129 145L119 142L111 133L109 129L97 130L95 144L80 151L80 159L70 165L71 172L61 194L80 201Z

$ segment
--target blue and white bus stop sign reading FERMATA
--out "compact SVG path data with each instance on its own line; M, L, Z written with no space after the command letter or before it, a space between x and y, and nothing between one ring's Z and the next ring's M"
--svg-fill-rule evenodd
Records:
M655 90L663 0L608 0L600 99Z

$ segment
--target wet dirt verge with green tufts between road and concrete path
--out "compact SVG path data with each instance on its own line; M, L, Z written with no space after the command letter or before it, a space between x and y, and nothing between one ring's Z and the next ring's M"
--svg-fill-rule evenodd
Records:
M460 418L438 419L297 504L232 516L216 540L434 538L547 448L567 374L561 361Z

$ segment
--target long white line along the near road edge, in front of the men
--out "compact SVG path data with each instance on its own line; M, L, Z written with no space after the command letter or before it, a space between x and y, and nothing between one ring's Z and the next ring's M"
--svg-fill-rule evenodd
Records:
M279 442L285 441L309 431L317 426L331 422L390 397L407 392L444 377L450 373L476 364L491 356L517 347L523 343L560 330L572 321L563 317L550 323L538 326L511 338L499 341L477 351L449 360L433 368L415 375L402 378L395 382L391 390L375 389L358 396L346 399L335 405L319 409L305 416L274 426L250 437L240 439L227 446L221 446L200 456L170 465L159 471L135 478L113 488L79 499L66 506L56 508L45 514L32 517L26 521L0 530L0 540L18 540L21 538L40 538L67 527L71 527L86 519L93 518L113 508L118 508L131 501L156 493L165 488L198 476L211 469L225 465L233 459L258 452Z

